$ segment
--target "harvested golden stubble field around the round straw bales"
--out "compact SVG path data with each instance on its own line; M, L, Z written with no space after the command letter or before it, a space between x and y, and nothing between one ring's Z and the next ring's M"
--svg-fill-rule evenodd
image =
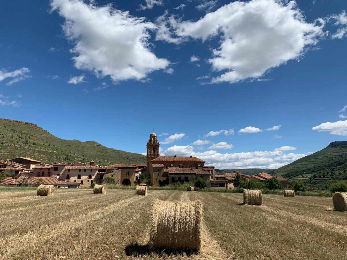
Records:
M0 190L0 259L346 259L347 212L332 198L242 193L88 189ZM201 250L152 250L152 203L201 200Z

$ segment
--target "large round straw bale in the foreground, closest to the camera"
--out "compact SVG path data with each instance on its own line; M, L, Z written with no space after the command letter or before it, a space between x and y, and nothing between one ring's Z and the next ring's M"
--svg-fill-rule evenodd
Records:
M199 251L202 203L155 200L152 208L150 245L153 249Z

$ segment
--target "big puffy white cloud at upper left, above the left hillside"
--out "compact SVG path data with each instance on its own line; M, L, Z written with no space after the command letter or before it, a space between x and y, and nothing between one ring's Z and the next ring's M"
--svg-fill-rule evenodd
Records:
M94 3L51 0L52 10L65 18L62 28L74 44L71 52L77 69L119 81L141 80L169 65L168 60L157 58L150 50L149 31L156 29L153 23L111 5L98 7Z

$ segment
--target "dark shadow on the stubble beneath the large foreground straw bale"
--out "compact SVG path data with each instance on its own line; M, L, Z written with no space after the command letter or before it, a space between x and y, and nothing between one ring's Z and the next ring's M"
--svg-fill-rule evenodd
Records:
M198 254L195 250L175 250L175 249L151 249L148 244L140 245L138 243L131 243L125 248L125 253L131 257L144 257L146 255L158 254L162 256L167 255L182 255L191 256L193 254Z

